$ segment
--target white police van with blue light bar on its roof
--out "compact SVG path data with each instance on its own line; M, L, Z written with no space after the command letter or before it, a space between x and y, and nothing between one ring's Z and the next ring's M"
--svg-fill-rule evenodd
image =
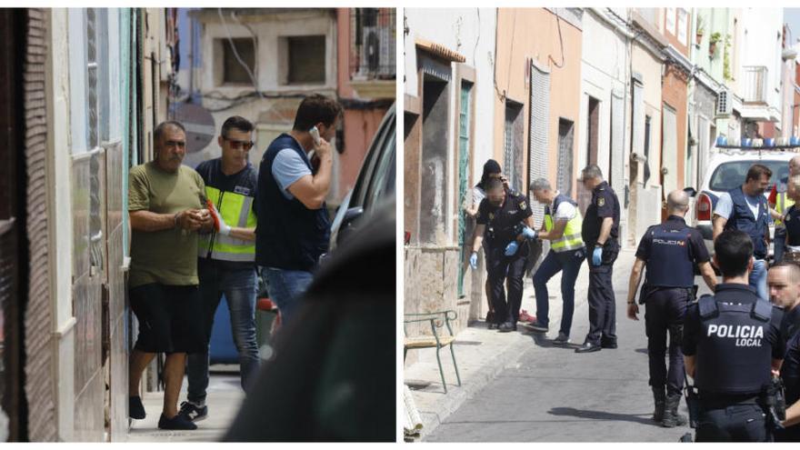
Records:
M708 168L705 171L703 184L699 186L695 197L695 215L691 225L695 226L705 239L709 254L714 254L712 240L712 218L716 201L723 193L745 184L747 170L756 163L766 165L772 170L770 185L765 191L768 196L778 180L789 175L789 160L800 152L800 137L792 136L788 142L775 139L743 138L741 142L729 141L719 136L711 148ZM770 225L770 239L775 233ZM772 255L770 243L769 255Z

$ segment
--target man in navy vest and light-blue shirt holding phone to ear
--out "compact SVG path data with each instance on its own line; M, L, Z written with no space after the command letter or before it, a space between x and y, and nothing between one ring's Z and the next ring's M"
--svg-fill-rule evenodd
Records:
M255 264L284 324L292 321L297 299L311 284L319 256L328 249L325 197L334 165L330 141L341 115L342 106L334 99L305 97L292 131L266 148L258 169ZM311 151L318 165L312 166Z

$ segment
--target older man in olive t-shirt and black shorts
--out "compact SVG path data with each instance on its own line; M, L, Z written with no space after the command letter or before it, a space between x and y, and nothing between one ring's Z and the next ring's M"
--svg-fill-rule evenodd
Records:
M197 425L177 413L186 353L205 349L197 289L197 233L210 231L203 178L181 165L183 125L155 128L155 160L131 169L128 212L131 217L129 297L139 322L131 353L129 415L145 418L139 382L156 353L165 353L164 410L158 427L190 430Z

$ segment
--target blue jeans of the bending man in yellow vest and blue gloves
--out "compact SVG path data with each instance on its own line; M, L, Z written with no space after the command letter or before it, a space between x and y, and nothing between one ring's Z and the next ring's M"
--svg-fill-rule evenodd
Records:
M569 335L569 330L572 328L572 316L575 313L575 280L585 258L585 248L560 253L550 250L545 256L542 265L539 265L539 269L534 274L536 322L539 325L550 324L550 318L547 315L550 310L547 282L553 275L564 271L561 274L561 298L564 301L564 309L561 313L561 329L558 331Z

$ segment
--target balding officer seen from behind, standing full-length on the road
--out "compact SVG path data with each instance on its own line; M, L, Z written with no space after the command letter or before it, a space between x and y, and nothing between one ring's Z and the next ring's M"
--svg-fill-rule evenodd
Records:
M647 356L650 360L650 386L653 388L655 413L653 420L665 427L686 425L686 418L678 415L681 392L684 389L684 355L681 353L686 306L694 300L695 265L699 266L705 284L714 290L716 278L709 264L703 236L686 225L684 217L689 210L689 197L684 191L673 191L666 198L669 216L660 225L647 228L631 271L628 286L628 317L636 316L636 288L646 267L645 284L639 303L646 305L645 333ZM669 333L669 368L665 366ZM665 391L666 388L666 391Z

